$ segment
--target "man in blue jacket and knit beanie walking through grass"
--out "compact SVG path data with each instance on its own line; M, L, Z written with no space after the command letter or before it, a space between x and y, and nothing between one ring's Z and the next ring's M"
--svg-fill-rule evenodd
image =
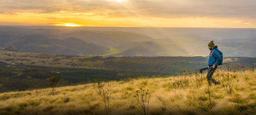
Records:
M217 69L219 63L221 62L221 57L219 55L218 46L214 45L213 41L210 41L208 44L210 54L208 58L208 73L207 73L207 80L209 85L211 86L211 82L215 85L219 85L220 83L212 78L213 72Z

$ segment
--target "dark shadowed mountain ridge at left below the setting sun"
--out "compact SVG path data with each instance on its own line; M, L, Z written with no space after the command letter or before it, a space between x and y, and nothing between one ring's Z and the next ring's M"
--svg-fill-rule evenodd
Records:
M68 55L101 55L108 50L97 44L87 43L75 37L64 40L49 35L5 35L0 37L0 45L15 46L17 50L29 53L54 53Z

